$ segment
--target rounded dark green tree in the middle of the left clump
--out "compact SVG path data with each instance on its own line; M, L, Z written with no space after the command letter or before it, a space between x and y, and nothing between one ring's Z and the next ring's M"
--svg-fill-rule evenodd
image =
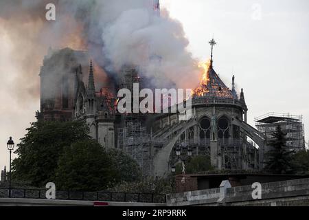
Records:
M103 190L115 181L111 157L95 140L65 147L56 170L56 186L62 190Z

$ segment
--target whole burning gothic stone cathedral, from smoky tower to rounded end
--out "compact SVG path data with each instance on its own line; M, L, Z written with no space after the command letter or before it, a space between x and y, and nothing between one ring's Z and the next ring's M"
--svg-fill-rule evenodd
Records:
M49 50L41 67L41 111L38 120L80 120L104 148L119 148L141 166L145 176L165 176L177 162L174 149L190 148L192 155L209 155L218 170L259 170L264 161L262 133L247 124L244 91L238 95L222 82L211 60L201 85L192 94L192 118L179 113L117 111L113 89L97 88L95 69L87 52L69 48ZM137 69L124 69L117 89L143 85ZM140 86L140 89L143 87Z

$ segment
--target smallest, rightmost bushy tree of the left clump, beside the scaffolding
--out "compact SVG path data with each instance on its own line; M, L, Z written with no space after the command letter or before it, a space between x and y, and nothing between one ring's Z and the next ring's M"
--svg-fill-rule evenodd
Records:
M108 149L107 153L108 157L111 157L113 167L117 170L114 176L116 182L139 180L141 169L135 159L119 149Z

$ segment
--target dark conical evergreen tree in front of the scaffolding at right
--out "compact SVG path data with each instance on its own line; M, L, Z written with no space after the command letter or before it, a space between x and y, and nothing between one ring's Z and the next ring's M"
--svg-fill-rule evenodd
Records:
M264 170L277 174L293 173L293 151L286 146L286 134L277 126L272 135L273 138L268 142L271 150L266 153L267 162Z

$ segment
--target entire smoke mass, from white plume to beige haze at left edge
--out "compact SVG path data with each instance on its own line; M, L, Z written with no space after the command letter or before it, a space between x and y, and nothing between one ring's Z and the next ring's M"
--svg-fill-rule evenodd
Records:
M45 19L47 3L56 5L56 21ZM155 87L168 86L169 80L177 87L196 87L196 61L186 50L181 24L165 10L155 16L152 6L152 0L1 0L1 142L10 135L18 142L35 119L38 74L49 47L87 50L96 63L96 82L105 79L104 72L117 80L123 67L139 67Z

